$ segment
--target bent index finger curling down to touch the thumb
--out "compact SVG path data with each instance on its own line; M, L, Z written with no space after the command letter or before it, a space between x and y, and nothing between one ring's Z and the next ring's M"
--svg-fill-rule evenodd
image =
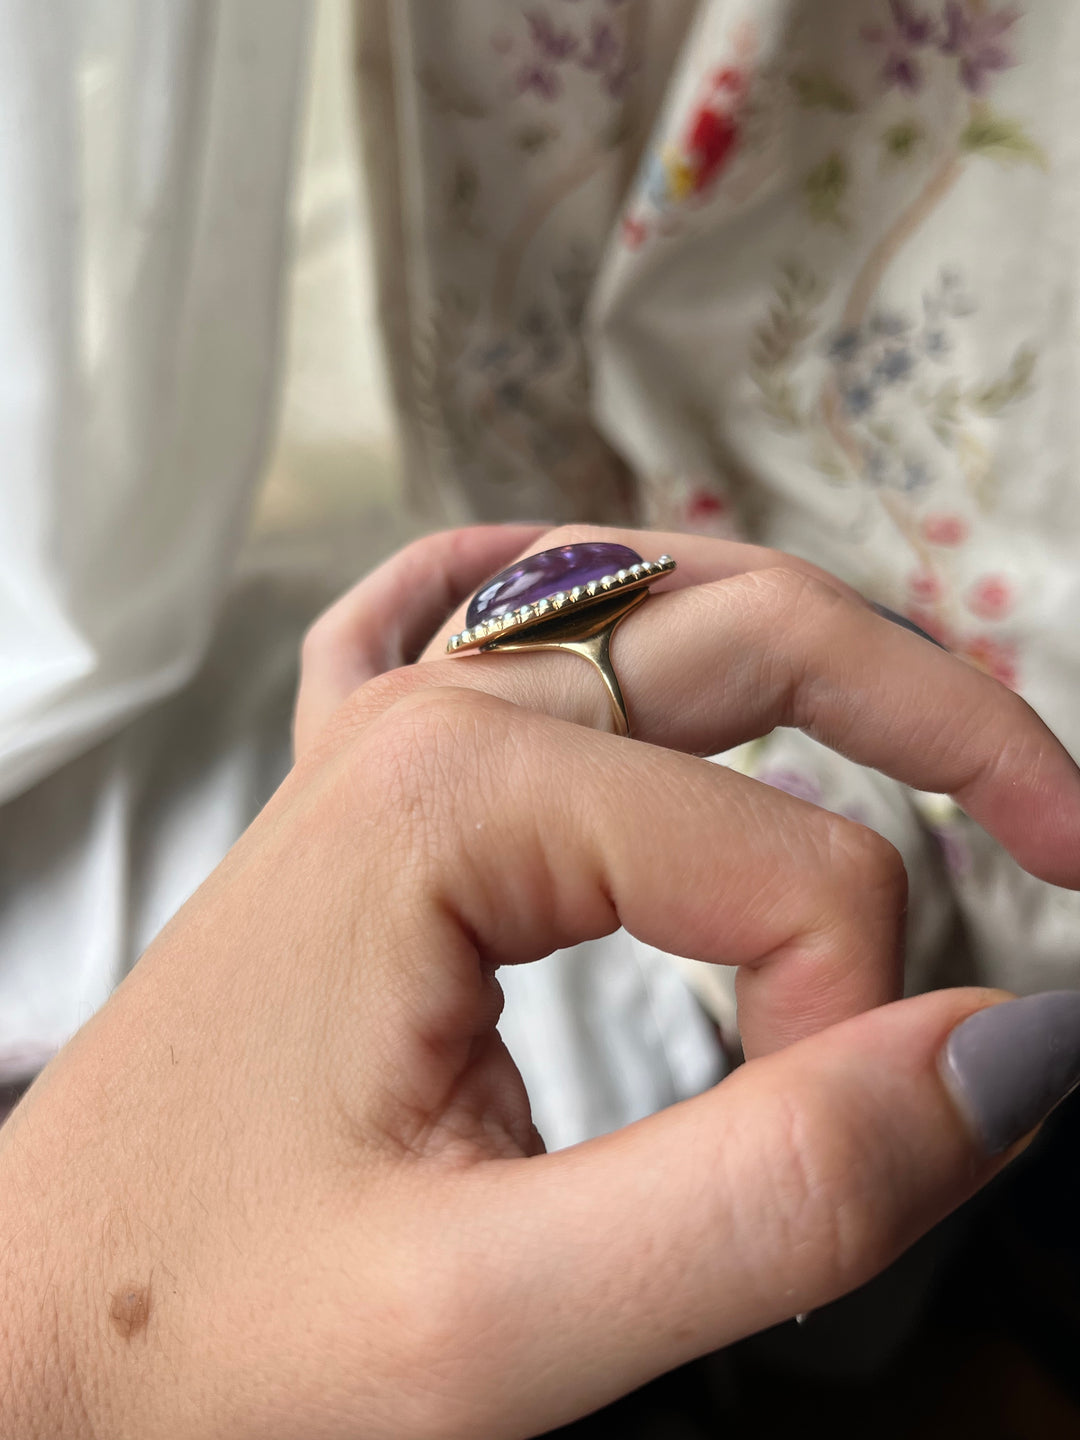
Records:
M480 772L467 763L478 742ZM456 999L461 988L471 994L477 949L490 972L619 924L670 953L743 966L749 1054L900 994L903 863L852 821L706 760L469 690L415 693L360 747L366 805L380 780L393 786L386 808L400 821L382 852L395 883L408 873L428 886L438 913L471 937L438 945L438 973L431 940L408 986L395 973L392 1005L403 989L413 995L387 1018L403 1031L395 1044L405 1073L425 1066L432 1035L482 1024L487 1012L462 1018ZM330 783L346 792L347 782ZM418 812L436 837L420 852L409 819ZM456 989L444 1014L448 986ZM415 1054L413 1031L426 1037Z

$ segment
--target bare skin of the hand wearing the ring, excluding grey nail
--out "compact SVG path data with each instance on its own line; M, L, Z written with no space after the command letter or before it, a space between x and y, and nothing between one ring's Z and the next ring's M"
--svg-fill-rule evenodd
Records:
M599 534L680 560L616 635L631 742L573 657L438 658L582 531L431 537L312 629L294 770L0 1130L0 1436L531 1436L860 1284L1009 1158L939 1073L1005 996L897 999L893 848L698 756L802 724L1080 886L1073 762L809 566ZM549 1156L495 972L619 924L740 966L750 1058Z

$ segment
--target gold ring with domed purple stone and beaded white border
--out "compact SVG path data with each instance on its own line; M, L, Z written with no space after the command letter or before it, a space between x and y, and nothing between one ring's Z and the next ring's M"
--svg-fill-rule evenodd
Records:
M612 704L615 734L628 736L622 690L611 662L616 625L671 575L670 554L642 560L624 544L589 541L541 550L501 570L469 600L465 629L446 652L566 649L599 672Z

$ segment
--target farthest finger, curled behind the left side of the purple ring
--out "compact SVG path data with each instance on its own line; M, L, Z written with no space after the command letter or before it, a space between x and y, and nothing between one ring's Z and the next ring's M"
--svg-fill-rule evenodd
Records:
M320 615L301 654L297 753L357 685L416 660L446 616L540 534L540 526L475 526L425 536Z

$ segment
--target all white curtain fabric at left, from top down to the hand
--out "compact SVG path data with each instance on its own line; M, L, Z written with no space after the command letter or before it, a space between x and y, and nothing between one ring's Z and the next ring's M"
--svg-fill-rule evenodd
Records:
M156 703L204 660L272 435L307 27L305 0L0 0L0 1083L281 773L291 652ZM292 651L258 577L217 649L264 612Z

